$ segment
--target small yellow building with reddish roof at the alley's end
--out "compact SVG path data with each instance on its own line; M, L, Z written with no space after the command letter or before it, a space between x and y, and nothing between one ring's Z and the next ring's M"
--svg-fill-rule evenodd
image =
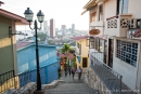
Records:
M79 66L84 69L89 67L89 46L87 46L87 38L88 36L73 38L76 42L75 54L77 68Z

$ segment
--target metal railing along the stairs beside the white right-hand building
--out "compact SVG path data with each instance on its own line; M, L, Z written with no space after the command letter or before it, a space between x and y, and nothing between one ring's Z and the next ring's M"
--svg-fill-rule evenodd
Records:
M111 91L112 94L121 94L121 76L100 61L99 57L94 55L98 52L93 52L90 55L91 68L105 84L105 86Z

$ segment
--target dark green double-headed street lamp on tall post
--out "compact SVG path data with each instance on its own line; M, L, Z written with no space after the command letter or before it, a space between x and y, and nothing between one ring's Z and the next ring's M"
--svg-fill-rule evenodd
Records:
M25 14L25 18L26 21L29 23L29 27L30 27L30 23L33 22L33 16L34 16L34 13L33 11L27 8L27 10L25 10L24 12ZM35 19L34 22L34 28L30 27L31 30L35 29L35 37L36 37L36 62L37 62L37 91L41 91L41 80L40 80L40 70L39 70L39 49L38 49L38 36L37 36L37 29L41 29L41 23L43 22L44 19L44 14L39 11L37 13L37 18L38 18L38 22L40 23L40 28L38 28L37 26L37 21Z

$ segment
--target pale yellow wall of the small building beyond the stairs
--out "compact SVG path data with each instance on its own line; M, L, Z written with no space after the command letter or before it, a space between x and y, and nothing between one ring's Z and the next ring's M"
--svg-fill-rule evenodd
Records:
M87 57L87 67L89 67L89 57L88 57L88 51L89 51L89 46L86 45L86 40L87 39L82 39L82 40L79 40L79 41L76 41L76 44L77 42L81 44L81 61L80 63L78 63L78 59L76 57L76 63L77 63L77 68L80 66L82 68L82 57ZM77 46L77 45L76 45Z

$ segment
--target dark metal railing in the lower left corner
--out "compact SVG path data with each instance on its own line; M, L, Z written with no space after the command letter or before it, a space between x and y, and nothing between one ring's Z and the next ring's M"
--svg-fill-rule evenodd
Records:
M14 70L0 75L0 94L9 89L20 89L31 81L31 71L25 71L18 76ZM10 91L11 92L11 91Z

